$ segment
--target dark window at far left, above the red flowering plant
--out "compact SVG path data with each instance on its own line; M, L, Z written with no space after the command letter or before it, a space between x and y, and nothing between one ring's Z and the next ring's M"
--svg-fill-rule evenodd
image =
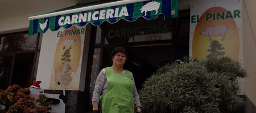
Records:
M42 34L0 34L0 87L18 84L29 87L36 78Z

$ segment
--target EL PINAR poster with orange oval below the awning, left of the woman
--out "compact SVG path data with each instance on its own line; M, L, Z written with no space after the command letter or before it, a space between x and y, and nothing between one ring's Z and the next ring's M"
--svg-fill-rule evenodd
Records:
M68 29L59 29L52 38L56 38L55 53L51 68L49 89L79 90L82 49L84 47L85 28L73 25Z

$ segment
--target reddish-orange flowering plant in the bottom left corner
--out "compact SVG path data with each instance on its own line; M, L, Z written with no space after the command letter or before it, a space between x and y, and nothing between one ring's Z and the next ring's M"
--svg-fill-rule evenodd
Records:
M51 108L46 95L41 94L35 100L29 94L29 88L20 88L19 85L0 90L0 113L46 113Z

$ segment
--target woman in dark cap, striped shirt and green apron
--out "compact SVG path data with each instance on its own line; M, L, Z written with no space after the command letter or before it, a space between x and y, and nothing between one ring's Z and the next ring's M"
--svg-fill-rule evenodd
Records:
M135 86L133 73L123 69L127 60L127 51L115 47L111 53L113 64L98 74L93 91L93 112L98 112L101 100L102 113L134 113L141 111L141 102Z

